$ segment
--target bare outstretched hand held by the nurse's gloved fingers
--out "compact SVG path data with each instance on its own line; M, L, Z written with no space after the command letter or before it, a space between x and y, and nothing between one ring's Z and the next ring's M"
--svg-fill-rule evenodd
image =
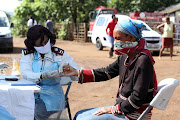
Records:
M71 66L63 66L63 73L64 75L61 75L61 77L63 76L78 76L78 70L74 69Z

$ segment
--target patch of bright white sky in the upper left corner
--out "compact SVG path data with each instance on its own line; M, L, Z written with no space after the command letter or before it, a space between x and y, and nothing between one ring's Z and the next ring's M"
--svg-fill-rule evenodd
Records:
M13 12L20 5L18 0L0 0L0 10Z

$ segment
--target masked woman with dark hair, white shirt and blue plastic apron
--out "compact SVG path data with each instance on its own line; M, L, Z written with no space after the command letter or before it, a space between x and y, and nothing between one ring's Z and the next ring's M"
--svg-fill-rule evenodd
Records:
M60 66L68 62L74 69L79 69L65 50L54 46L55 42L55 36L41 25L31 27L24 41L26 49L22 51L21 74L24 79L36 82L41 87L41 92L35 94L36 120L48 119L60 106L61 110L65 109Z

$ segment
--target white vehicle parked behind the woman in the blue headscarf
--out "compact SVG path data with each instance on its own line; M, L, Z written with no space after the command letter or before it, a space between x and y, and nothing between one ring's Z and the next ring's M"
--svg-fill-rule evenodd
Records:
M106 27L108 23L112 20L111 16L112 16L111 14L99 15L93 26L91 41L92 43L96 44L97 50L102 50L103 47L110 47L110 42L107 39ZM129 16L126 15L117 15L117 14L116 17L118 17L118 20L130 18ZM144 24L146 25L147 28L142 31L142 37L146 40L145 48L147 48L152 52L159 53L162 45L161 42L162 36L158 32L152 30L146 23Z

